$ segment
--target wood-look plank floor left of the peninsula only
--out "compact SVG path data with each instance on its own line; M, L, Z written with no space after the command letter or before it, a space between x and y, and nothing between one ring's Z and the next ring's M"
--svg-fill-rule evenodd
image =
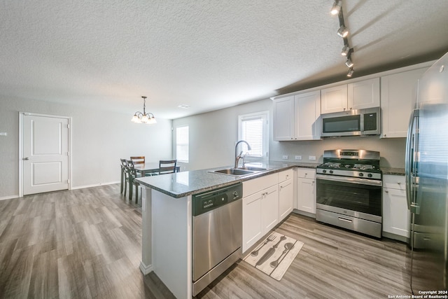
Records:
M0 298L173 298L140 260L118 184L0 201Z

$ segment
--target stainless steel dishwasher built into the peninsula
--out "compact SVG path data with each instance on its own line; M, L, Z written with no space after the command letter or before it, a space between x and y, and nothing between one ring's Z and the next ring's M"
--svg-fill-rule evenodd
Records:
M241 257L243 185L193 195L193 296Z

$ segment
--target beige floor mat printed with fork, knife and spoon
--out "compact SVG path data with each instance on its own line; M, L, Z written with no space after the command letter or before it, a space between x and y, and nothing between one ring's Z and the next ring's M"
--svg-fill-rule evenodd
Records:
M303 242L272 232L243 260L270 277L280 280L302 246Z

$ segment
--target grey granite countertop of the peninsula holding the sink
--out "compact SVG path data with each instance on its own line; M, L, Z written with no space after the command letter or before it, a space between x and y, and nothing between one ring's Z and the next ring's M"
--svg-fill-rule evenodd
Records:
M256 167L264 167L267 170L249 174L247 176L230 176L210 172L214 169L225 169L230 167L216 167L211 169L193 170L190 172L177 172L174 174L162 174L159 176L145 176L136 179L142 186L158 190L171 197L180 198L187 195L206 192L216 188L230 186L242 181L248 181L260 176L281 172L293 167L316 168L318 163L296 163L269 161L264 164L252 164ZM249 166L249 163L246 165Z

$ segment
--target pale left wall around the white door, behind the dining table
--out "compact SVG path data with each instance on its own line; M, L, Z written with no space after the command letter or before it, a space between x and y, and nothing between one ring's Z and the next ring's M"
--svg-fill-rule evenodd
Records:
M172 158L172 120L135 124L130 113L0 97L0 199L18 195L19 111L71 116L72 188L120 181L120 158Z

